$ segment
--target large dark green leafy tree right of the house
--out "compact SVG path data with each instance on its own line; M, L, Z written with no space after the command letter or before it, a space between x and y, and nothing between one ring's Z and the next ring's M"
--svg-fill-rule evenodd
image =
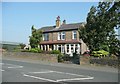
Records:
M113 45L119 43L114 29L120 26L120 2L99 2L97 7L91 7L86 21L86 25L79 28L79 35L89 49L118 53L120 47Z

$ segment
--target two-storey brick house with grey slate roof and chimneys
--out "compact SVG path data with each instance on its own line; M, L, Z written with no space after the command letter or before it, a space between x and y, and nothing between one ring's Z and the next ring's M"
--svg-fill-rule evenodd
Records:
M60 50L61 53L72 55L75 51L83 54L87 50L86 44L79 39L78 28L84 23L61 24L60 17L57 17L55 26L42 27L43 40L40 42L41 50Z

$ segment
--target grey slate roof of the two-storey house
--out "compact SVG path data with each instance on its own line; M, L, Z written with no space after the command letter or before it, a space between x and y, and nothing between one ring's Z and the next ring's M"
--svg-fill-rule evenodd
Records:
M56 26L46 26L46 27L42 27L42 28L40 28L38 30L42 30L43 33L55 32L55 31L63 31L63 30L77 30L82 24L85 24L85 22L72 23L72 24L63 24L59 28L56 28Z

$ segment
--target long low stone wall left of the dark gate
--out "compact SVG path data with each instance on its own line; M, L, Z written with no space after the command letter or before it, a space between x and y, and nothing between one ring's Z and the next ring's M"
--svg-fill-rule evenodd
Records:
M56 54L41 54L41 53L30 53L30 52L3 52L3 58L16 58L23 60L38 60L57 63Z

